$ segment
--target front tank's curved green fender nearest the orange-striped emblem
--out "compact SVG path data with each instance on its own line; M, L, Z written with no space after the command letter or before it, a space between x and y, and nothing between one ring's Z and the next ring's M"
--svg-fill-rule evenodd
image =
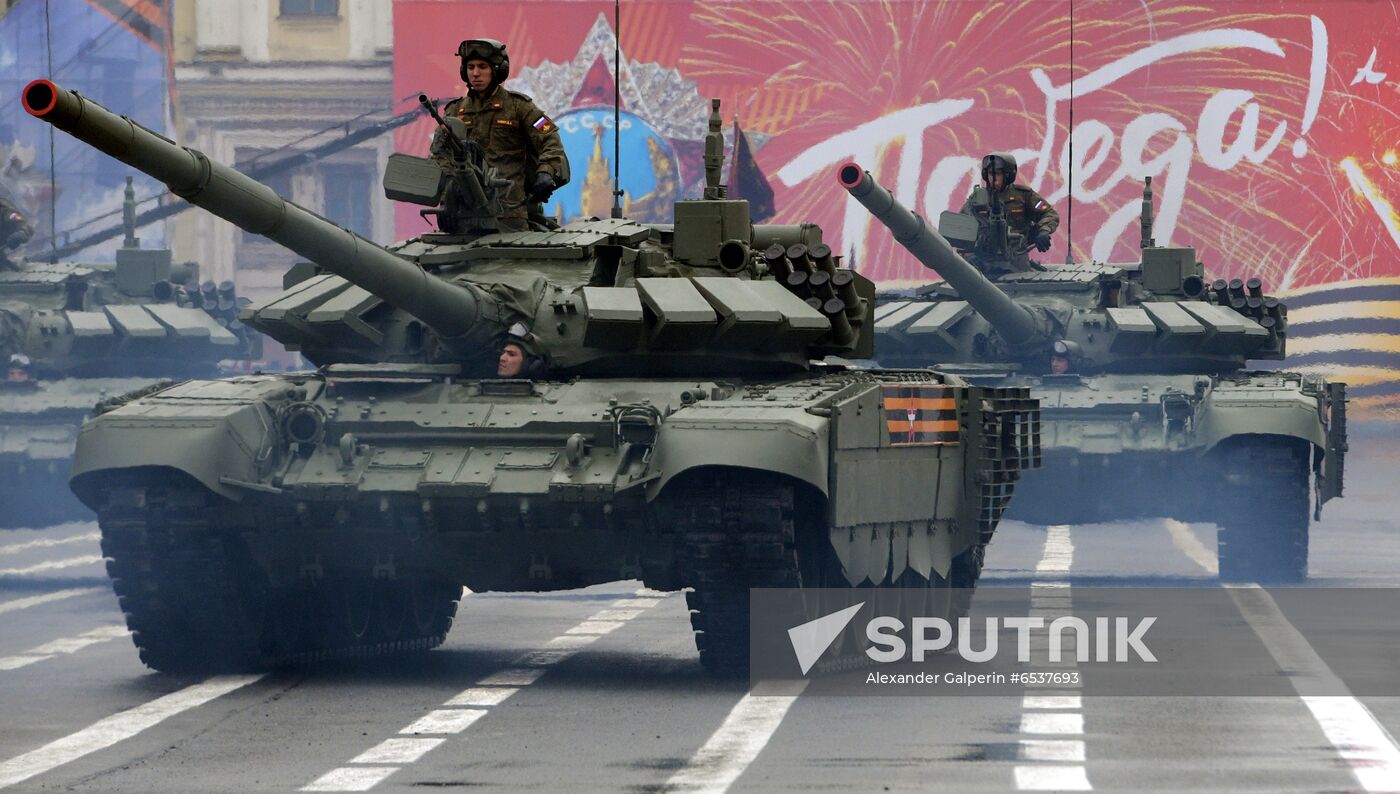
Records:
M651 466L661 476L647 487L654 500L676 475L701 466L745 468L802 480L827 493L826 419L697 417L666 420L657 433Z

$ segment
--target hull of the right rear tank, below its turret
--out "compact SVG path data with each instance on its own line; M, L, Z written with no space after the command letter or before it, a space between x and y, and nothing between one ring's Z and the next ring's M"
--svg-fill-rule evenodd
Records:
M994 382L1029 388L1042 405L1044 465L1022 479L1009 518L1214 522L1222 577L1305 578L1310 518L1341 490L1337 384L1263 371Z

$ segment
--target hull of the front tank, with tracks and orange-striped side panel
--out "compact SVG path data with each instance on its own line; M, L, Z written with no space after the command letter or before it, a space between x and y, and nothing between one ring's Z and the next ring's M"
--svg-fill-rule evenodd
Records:
M98 513L119 595L130 590L133 632L155 627L136 634L147 664L249 668L426 647L445 634L461 587L641 580L694 588L697 629L710 616L701 660L734 669L749 587L976 584L959 566L980 562L1035 461L1023 389L927 371L746 385L428 370L190 381L84 427L73 487ZM938 412L937 429L910 433L935 422L910 419L911 401ZM199 620L160 612L196 594L139 598L182 587L192 564L227 569L239 592L237 620L209 622L223 644ZM421 620L326 639L356 604L413 615L412 592L437 594L419 599ZM316 602L325 611L308 615ZM287 604L300 606L276 606ZM715 613L745 640L715 629ZM228 640L217 626L242 629ZM179 630L189 636L169 636Z

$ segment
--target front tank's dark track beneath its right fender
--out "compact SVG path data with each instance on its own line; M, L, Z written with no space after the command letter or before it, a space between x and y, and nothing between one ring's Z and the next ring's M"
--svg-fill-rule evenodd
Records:
M792 486L755 473L708 473L673 486L672 518L700 664L749 669L749 588L798 587Z

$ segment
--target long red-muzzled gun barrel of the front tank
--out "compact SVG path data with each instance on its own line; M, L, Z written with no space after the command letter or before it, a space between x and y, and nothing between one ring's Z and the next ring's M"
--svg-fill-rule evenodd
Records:
M24 88L24 109L73 137L164 182L172 193L266 237L414 315L445 340L479 316L475 290L442 281L417 265L284 200L272 188L179 146L49 80Z

